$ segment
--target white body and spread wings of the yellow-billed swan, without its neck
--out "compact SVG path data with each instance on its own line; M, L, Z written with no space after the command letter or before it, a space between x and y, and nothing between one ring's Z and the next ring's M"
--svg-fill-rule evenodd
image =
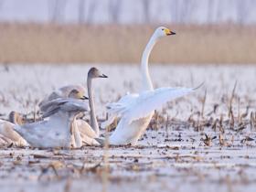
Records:
M167 102L193 92L191 88L159 88L133 95L126 102L108 105L109 112L121 117L110 136L110 144L136 144L150 123L154 111Z

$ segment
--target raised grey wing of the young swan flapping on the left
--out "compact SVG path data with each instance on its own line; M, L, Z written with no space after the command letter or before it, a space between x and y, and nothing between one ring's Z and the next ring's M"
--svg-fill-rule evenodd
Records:
M89 105L85 101L72 98L59 98L41 105L43 118L51 116L56 112L88 112Z

